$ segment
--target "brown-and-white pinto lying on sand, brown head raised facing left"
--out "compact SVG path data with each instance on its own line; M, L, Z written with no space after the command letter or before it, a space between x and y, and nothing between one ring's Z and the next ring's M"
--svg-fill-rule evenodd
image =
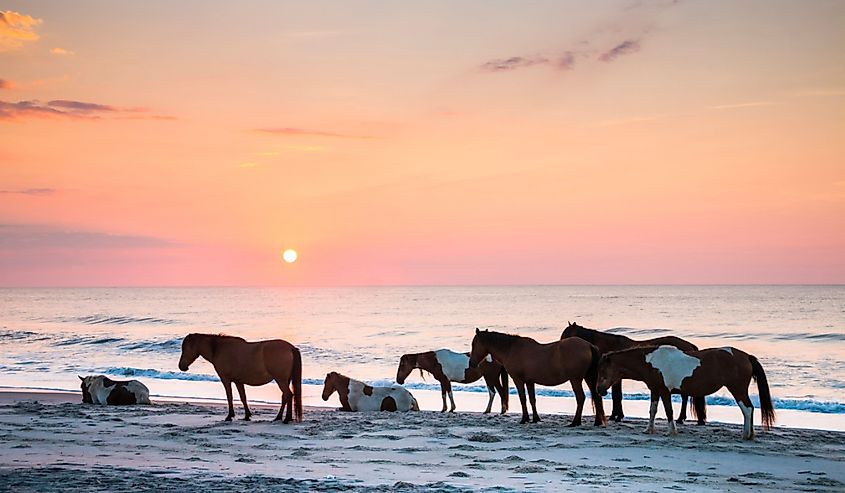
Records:
M331 372L323 384L323 400L337 392L341 411L419 411L417 400L404 387L373 387L358 380Z

